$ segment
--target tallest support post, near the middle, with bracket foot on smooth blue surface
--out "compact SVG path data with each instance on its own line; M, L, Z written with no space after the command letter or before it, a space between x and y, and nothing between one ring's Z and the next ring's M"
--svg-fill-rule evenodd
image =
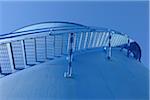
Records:
M68 69L67 72L64 73L64 77L71 78L72 77L72 59L73 59L73 47L74 47L74 34L69 34L69 53L68 53Z

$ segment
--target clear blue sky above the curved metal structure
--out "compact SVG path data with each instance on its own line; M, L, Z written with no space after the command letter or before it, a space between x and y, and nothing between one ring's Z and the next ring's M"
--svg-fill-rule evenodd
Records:
M45 21L69 21L106 27L128 34L142 48L148 67L149 13L144 1L39 1L0 2L0 34Z

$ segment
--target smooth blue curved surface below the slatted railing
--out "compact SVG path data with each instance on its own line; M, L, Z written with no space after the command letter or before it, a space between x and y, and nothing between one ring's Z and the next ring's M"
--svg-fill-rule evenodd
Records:
M0 78L0 100L148 100L148 69L124 52L102 50L75 54L73 77L64 78L65 57Z

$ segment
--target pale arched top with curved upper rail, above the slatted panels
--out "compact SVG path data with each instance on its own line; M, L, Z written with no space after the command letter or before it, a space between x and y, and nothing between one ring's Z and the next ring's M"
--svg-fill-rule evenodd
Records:
M65 32L78 32L80 31L93 31L93 32L113 32L115 34L120 34L126 36L126 34L123 34L121 32L118 32L113 29L108 29L104 27L93 27L93 26L85 26L82 24L72 23L72 22L63 22L63 21L49 21L49 22L41 22L36 24L31 24L24 26L22 28L19 28L11 33L0 35L0 40L7 39L7 38L13 38L17 36L22 35L29 35L34 33L40 33L40 32L53 32L53 33L65 33Z

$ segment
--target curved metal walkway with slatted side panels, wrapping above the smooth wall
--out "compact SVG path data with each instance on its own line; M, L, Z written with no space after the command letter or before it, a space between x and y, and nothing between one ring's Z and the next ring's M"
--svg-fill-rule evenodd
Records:
M74 52L101 47L107 50L108 59L115 47L127 49L127 56L132 53L135 59L141 58L140 46L126 34L70 22L44 22L0 36L1 73L66 55L71 63Z

